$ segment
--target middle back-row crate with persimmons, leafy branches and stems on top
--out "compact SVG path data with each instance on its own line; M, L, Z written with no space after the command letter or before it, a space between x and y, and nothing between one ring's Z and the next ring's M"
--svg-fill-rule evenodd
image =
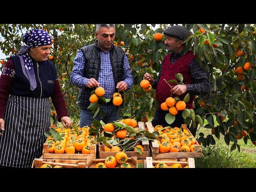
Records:
M94 120L92 127L93 133L98 131L100 158L115 156L117 152L124 151L128 157L146 159L150 156L148 140L156 138L156 135L145 130L143 122L137 123L130 118L107 124Z

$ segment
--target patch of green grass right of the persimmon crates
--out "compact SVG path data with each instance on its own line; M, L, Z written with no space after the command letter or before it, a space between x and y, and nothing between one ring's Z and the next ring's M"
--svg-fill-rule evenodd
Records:
M207 121L205 124L208 123ZM214 118L214 124L216 118ZM211 134L211 129L200 128L196 133L196 136L202 132L204 136ZM247 145L244 140L238 140L240 145L240 153L238 150L230 152L230 147L233 142L230 142L229 146L224 141L224 136L220 134L220 140L213 135L216 145L214 146L202 146L201 158L195 158L196 168L256 168L256 146L248 140Z

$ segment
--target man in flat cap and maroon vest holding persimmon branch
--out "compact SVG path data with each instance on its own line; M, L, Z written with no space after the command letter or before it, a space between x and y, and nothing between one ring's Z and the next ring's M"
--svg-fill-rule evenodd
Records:
M189 93L190 100L186 103L186 108L193 109L194 95L204 95L210 92L210 82L204 66L200 67L192 50L186 53L183 51L185 46L183 39L188 34L189 31L187 28L179 25L171 26L164 30L164 35L166 36L164 44L170 54L167 54L162 61L158 79L154 80L150 74L144 74L143 79L148 80L152 87L156 89L156 100L158 100L159 106L163 102L166 102L166 98L171 95L172 98L178 96L180 100L183 100L184 96ZM166 81L175 79L175 74L177 73L182 74L184 85L170 83L172 86L170 90L170 86L168 86L164 79ZM166 104L169 107L172 106L170 103ZM155 112L152 125L169 126L165 120L167 113L169 113L168 110L162 110L159 107ZM180 127L181 124L184 124L184 119L182 118L182 110L178 109L178 114L175 115L175 121L170 126ZM191 132L195 135L196 129L191 130Z

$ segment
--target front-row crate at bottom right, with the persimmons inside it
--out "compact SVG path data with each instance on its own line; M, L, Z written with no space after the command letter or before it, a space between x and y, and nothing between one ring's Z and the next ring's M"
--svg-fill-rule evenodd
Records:
M146 168L195 168L194 158L185 158L184 161L154 160L146 158Z

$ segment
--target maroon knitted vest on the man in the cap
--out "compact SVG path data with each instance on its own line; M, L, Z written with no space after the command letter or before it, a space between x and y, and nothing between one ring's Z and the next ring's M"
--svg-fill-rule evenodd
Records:
M161 77L158 82L158 85L156 87L156 100L159 102L159 110L161 110L160 105L165 102L166 98L170 97L170 87L166 84L164 79L166 81L176 79L175 74L181 73L183 76L183 83L184 84L193 84L194 80L192 79L190 75L190 61L193 58L196 58L194 56L193 51L188 51L186 54L182 55L180 58L178 58L173 64L170 62L170 56L171 54L167 54L164 57L163 60L163 66L161 70ZM179 81L178 81L179 82ZM171 86L177 85L176 83L169 83ZM184 96L186 95L182 94L178 96L181 100L183 100ZM177 95L172 94L172 97L176 97ZM195 96L190 94L190 100L186 103L186 108L192 109L193 108L193 100Z

